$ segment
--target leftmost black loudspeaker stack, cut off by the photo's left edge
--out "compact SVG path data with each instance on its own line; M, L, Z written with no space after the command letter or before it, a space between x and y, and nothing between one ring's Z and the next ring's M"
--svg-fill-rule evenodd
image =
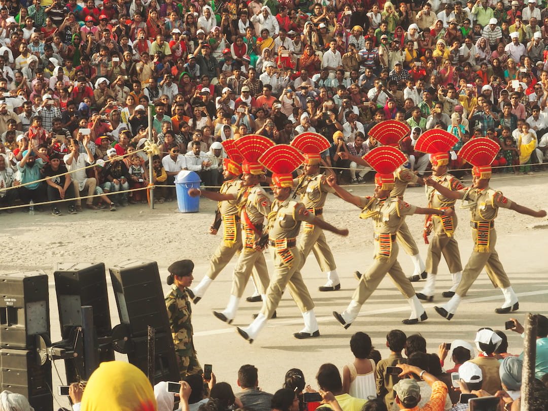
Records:
M43 271L0 275L0 391L52 411L48 276Z

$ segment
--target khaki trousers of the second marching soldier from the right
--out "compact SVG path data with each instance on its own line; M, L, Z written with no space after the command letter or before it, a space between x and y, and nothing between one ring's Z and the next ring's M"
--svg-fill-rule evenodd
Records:
M425 271L430 274L438 273L438 265L443 254L450 273L463 271L463 264L460 261L459 243L456 242L454 232L456 231L457 220L453 217L453 236L448 237L443 231L441 219L432 216L433 237L428 246Z

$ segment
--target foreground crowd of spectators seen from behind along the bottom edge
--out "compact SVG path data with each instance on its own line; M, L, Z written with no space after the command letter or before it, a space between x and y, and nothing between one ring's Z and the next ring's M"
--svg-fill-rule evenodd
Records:
M517 319L510 321L512 332L524 332ZM521 347L509 347L505 332L484 327L477 331L473 345L459 339L450 344L448 348L448 343L442 343L437 353L428 353L423 336L407 336L395 329L386 335L390 354L381 358L369 336L357 332L350 340L354 359L342 368L342 373L334 364L324 363L319 366L315 383L307 384L302 371L292 368L273 394L260 389L258 369L250 364L237 372L239 391L229 383L218 383L214 373L208 380L203 374L191 374L180 381L179 396L174 396L167 391L167 383L152 387L138 368L120 361L100 364L85 386L73 383L69 393L73 411L172 411L179 401L181 411L466 411L470 396L464 399L463 394L496 397L497 411L522 409L523 352L518 354ZM546 411L548 318L543 315L537 316L533 361L528 411ZM393 372L393 367L399 369ZM307 393L313 392L319 392L321 399L307 398ZM30 408L21 395L4 391L0 394L0 411L8 410Z

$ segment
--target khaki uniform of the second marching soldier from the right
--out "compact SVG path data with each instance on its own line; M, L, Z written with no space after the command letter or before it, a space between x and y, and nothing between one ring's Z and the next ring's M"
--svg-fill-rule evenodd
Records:
M460 181L450 174L442 176L432 176L432 180L439 182L449 190L456 191L464 189ZM455 208L455 199L442 196L433 187L426 187L426 197L428 197L428 207L445 210ZM438 265L443 254L447 262L450 273L463 271L463 265L460 261L459 244L456 242L454 232L456 230L456 215L447 217L441 215L431 215L433 237L428 246L428 255L426 256L426 272L431 274L438 273Z

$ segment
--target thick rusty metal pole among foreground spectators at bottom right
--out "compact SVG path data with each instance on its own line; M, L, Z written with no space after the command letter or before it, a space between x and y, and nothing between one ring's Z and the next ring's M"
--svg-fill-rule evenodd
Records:
M521 411L528 411L533 399L536 357L536 315L528 312L525 318L523 338L523 368L521 374Z

